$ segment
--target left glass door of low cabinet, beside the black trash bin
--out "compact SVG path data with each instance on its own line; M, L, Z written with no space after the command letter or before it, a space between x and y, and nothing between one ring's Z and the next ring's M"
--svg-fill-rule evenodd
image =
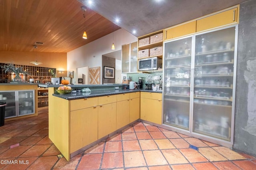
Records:
M0 92L0 102L6 102L5 118L16 117L15 91Z

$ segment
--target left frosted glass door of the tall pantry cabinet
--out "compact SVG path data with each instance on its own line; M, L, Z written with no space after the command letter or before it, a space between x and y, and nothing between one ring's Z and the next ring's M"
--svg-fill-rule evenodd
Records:
M165 43L164 124L189 129L192 37Z

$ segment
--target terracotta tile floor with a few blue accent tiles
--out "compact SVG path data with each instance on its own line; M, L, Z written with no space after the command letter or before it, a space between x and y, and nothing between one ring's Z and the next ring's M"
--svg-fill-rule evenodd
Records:
M58 154L48 138L48 107L38 108L37 117L0 127L0 170L256 170L254 156L142 122L70 162Z

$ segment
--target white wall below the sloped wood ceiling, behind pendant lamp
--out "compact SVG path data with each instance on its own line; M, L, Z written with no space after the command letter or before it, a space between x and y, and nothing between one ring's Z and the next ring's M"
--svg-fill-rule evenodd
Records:
M88 39L90 35L88 35ZM114 31L114 45L115 50L111 49L113 41L113 33L110 33L104 37L101 37L91 43L88 43L82 47L74 49L67 53L67 69L68 71L74 71L74 84L78 84L78 77L76 68L89 66L98 67L100 66L100 72L102 72L102 55L113 51L118 51L122 49L123 44L137 41L138 38L130 34L124 29L118 29ZM86 41L86 39L84 40ZM95 57L93 57L95 56ZM100 80L102 80L102 75L100 75Z

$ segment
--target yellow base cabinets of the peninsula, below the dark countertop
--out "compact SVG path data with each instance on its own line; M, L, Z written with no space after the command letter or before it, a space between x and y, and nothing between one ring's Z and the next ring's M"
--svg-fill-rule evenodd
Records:
M53 88L49 88L49 93L53 92ZM119 125L117 95L76 100L66 100L49 95L50 140L69 161L76 154L99 143L100 140L106 139L108 135L113 135L130 125L130 123L139 120L140 103L137 101L140 92L133 93L136 93L132 95L132 100L136 102L133 107L135 109L131 109L133 114L128 114L126 117L128 120L124 121L125 123L122 123L122 126L119 127L117 126ZM129 95L129 100L126 100L128 103L124 107L127 107L130 111L130 93L127 95ZM132 119L130 119L130 116Z

